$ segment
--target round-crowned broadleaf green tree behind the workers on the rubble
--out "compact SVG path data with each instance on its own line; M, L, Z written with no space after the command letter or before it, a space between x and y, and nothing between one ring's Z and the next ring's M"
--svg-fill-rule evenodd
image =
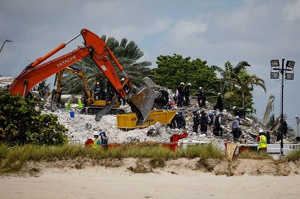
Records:
M170 89L177 89L180 82L191 83L191 93L195 93L199 86L207 91L214 92L208 87L209 82L216 81L216 73L212 68L206 65L206 61L196 58L190 60L190 57L183 58L181 55L173 54L160 55L157 57L157 68L152 71L155 74L153 81Z

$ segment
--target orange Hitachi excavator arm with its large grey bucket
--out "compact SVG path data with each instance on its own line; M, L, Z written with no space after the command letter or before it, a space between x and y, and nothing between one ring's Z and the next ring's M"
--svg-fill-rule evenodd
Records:
M84 46L78 47L77 49L46 63L42 63L80 35L83 37L85 43ZM85 28L81 29L80 33L71 38L69 41L61 43L43 57L37 58L35 61L26 66L9 85L9 93L11 95L20 94L24 97L28 94L31 88L42 80L45 80L88 55L109 81L117 95L125 100L131 107L132 112L136 114L136 125L143 125L154 103L154 91L148 87L133 87L129 76L126 75L123 67L119 64L107 44L99 36ZM113 63L125 77L123 82L121 82L117 76ZM129 89L126 90L125 87L129 87ZM107 104L106 107L109 109L112 105L113 102L111 102L111 104ZM101 115L96 115L96 121L100 118L99 116Z

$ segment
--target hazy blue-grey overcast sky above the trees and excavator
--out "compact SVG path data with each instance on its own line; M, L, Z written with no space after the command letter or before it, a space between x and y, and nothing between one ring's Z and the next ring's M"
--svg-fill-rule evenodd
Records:
M284 81L283 112L293 128L300 115L300 0L1 0L0 75L17 76L30 62L87 28L101 36L134 40L142 60L173 53L223 67L249 62L249 74L265 80L267 92L254 87L256 116L267 99L280 114L280 82L270 79L270 60L294 60L294 80ZM76 38L59 53L81 45ZM48 60L50 60L48 59ZM178 83L183 80L178 80ZM53 82L49 82L53 85ZM199 85L201 86L201 85Z

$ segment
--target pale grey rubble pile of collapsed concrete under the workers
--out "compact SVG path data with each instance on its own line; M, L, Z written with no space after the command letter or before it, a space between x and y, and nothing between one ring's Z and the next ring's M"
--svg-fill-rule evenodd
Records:
M44 107L48 107L45 105ZM55 110L51 111L44 108L41 112L43 114L54 114L58 116L58 122L64 125L68 132L66 136L71 142L84 144L86 139L91 138L94 131L105 131L109 138L110 143L125 143L125 142L141 142L141 141L154 141L154 142L168 142L169 137L172 134L182 134L184 132L188 133L188 137L185 139L193 139L204 142L216 143L221 149L224 149L225 142L233 142L233 136L231 133L231 123L235 119L230 112L223 110L224 117L222 118L222 137L216 137L212 134L212 127L207 130L206 134L196 135L192 131L192 110L200 110L196 101L196 97L192 96L190 99L190 105L186 107L176 107L176 110L182 110L186 121L186 129L172 129L166 125L152 125L145 128L136 128L130 130L119 129L116 126L116 116L115 115L104 115L99 122L94 120L94 115L84 115L80 114L78 105L71 104L71 110L75 112L75 117L71 118L69 111L65 110ZM125 105L120 105L120 108L125 110L126 113L130 112L130 107ZM203 108L206 114L209 112L213 114L218 114L218 111L212 110L212 105L206 102L206 107ZM157 127L158 126L158 127ZM163 129L161 129L163 128ZM256 137L259 129L263 129L267 132L267 128L261 125L258 120L251 120L249 118L240 120L240 129L242 131L240 141L242 143L255 144ZM165 133L161 133L165 132ZM180 140L182 142L184 139ZM276 136L270 133L271 143L276 141Z

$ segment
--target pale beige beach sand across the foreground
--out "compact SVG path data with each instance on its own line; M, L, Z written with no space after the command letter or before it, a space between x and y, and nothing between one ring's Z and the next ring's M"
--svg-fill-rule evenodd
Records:
M31 175L2 176L0 199L296 199L300 176L233 176L205 173L193 168L196 160L174 160L150 173L134 173L136 159L121 166L85 165L81 169L59 164L36 165ZM54 164L54 163L52 163ZM223 163L219 163L223 164ZM241 163L242 165L243 163ZM254 163L256 164L256 163ZM41 165L44 165L42 167ZM147 165L144 166L149 169ZM35 168L35 169L34 169ZM131 171L130 171L131 168ZM257 170L257 168L255 168ZM255 170L253 169L253 171ZM237 171L238 167L234 171ZM240 171L239 171L240 172Z

